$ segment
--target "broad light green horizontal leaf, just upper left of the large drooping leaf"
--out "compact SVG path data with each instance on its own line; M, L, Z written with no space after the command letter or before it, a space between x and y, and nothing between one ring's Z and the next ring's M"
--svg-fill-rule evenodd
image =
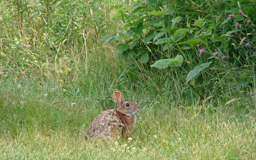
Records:
M183 63L183 56L178 54L175 58L157 60L154 64L150 65L150 67L164 69L167 67L181 66L182 63Z

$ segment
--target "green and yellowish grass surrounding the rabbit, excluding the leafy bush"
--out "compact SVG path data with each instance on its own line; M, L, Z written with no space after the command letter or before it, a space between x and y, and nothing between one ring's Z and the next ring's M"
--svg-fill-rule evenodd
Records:
M50 4L48 14L46 4L28 4L18 15L19 4L0 2L0 159L256 159L255 72L218 74L209 83L220 87L206 88L214 98L200 104L184 75L119 62L115 46L99 42L123 27L106 20L116 8L105 2ZM249 89L234 92L243 78ZM153 98L140 105L132 140L84 141L92 120L116 108L114 89Z

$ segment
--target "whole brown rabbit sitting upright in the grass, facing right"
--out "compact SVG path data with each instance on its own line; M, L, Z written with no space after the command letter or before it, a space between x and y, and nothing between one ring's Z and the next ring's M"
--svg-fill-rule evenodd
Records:
M130 136L140 108L134 102L123 100L119 90L114 90L113 98L118 105L117 110L105 110L99 114L84 132L85 139L114 138L118 132L126 139Z

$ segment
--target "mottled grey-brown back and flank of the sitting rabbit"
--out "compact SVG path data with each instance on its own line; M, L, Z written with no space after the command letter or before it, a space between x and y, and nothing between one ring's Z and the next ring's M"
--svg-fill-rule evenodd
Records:
M113 138L116 131L122 130L124 124L121 122L116 110L106 110L99 114L84 132L85 138Z

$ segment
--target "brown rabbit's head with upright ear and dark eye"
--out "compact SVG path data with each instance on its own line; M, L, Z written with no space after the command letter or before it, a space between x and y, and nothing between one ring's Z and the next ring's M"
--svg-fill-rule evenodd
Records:
M113 98L118 105L117 110L125 114L126 116L134 116L134 114L138 113L140 110L138 104L124 100L122 97L122 93L119 90L114 90Z

